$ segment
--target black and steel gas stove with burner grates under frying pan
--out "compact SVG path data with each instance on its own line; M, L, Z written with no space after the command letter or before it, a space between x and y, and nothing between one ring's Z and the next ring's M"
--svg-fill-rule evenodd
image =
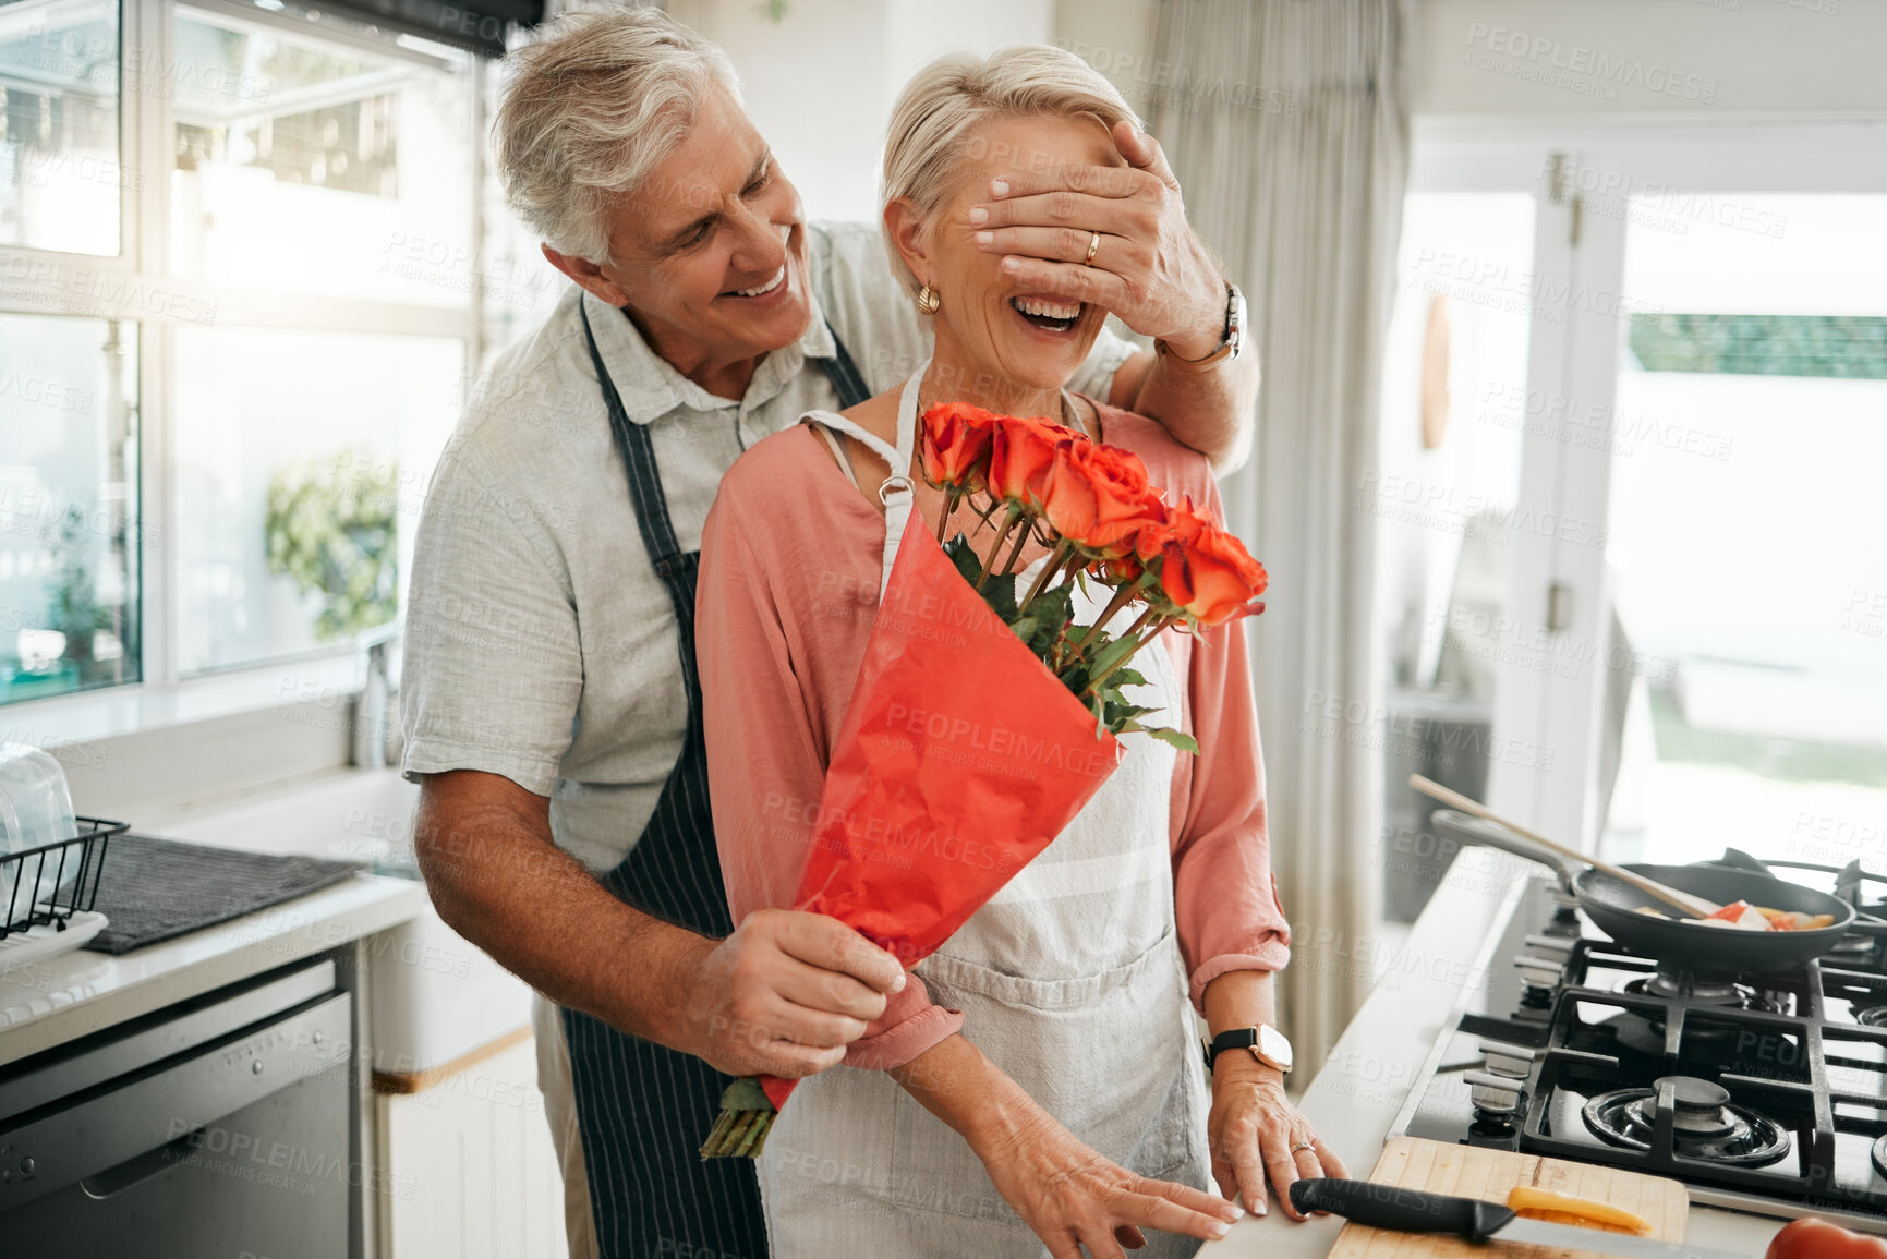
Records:
M1806 868L1785 878L1825 872L1864 904L1859 868ZM1489 982L1464 991L1394 1134L1887 1233L1887 923L1781 974L1710 974L1619 948L1576 904L1551 880L1525 883L1478 959Z

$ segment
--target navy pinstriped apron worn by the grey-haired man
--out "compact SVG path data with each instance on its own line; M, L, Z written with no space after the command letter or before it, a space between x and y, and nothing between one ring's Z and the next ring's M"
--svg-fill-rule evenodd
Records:
M642 546L676 608L681 680L689 697L681 759L662 783L642 838L602 883L645 914L721 940L734 932L734 921L708 814L708 747L702 742L702 687L694 668L700 551L683 551L676 542L649 430L628 421L596 351L589 311L583 311L583 336L628 470ZM840 406L857 406L868 396L864 379L838 336L832 344L838 353L817 362L838 389ZM630 966L634 959L625 957L623 965ZM700 1144L713 1127L730 1078L691 1053L626 1036L589 1014L562 1008L560 1014L602 1259L764 1259L766 1221L753 1161L700 1157Z

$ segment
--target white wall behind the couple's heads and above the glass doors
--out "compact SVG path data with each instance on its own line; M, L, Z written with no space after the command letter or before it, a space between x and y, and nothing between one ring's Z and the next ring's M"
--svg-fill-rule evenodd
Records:
M876 219L891 102L951 47L1053 42L1144 109L1157 0L670 0L745 79L815 219ZM1408 0L1423 117L1887 117L1887 0ZM1659 91L1662 89L1662 91Z

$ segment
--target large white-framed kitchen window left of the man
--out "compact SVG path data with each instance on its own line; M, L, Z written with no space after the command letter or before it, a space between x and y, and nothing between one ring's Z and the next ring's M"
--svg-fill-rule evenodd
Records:
M0 704L398 617L487 332L557 296L493 79L281 0L0 0Z

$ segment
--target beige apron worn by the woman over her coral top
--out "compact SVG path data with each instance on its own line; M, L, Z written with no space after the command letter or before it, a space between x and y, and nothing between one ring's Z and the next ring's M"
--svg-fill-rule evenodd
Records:
M904 387L896 449L840 415L804 419L910 468L921 378L923 368ZM910 481L894 474L879 495L889 578ZM1079 591L1076 606L1083 619L1102 612ZM1132 615L1119 613L1111 629ZM1147 683L1127 691L1130 702L1157 710L1147 725L1176 725L1181 683L1168 651L1142 651L1134 666ZM1079 1140L1144 1176L1210 1191L1210 1102L1174 927L1168 802L1177 753L1145 734L1121 742L1121 764L1076 819L917 974L940 1006L962 1010L964 1034ZM1045 1253L970 1146L885 1072L834 1066L800 1082L759 1170L774 1259ZM1134 1253L1194 1250L1193 1238L1147 1231L1147 1248Z

